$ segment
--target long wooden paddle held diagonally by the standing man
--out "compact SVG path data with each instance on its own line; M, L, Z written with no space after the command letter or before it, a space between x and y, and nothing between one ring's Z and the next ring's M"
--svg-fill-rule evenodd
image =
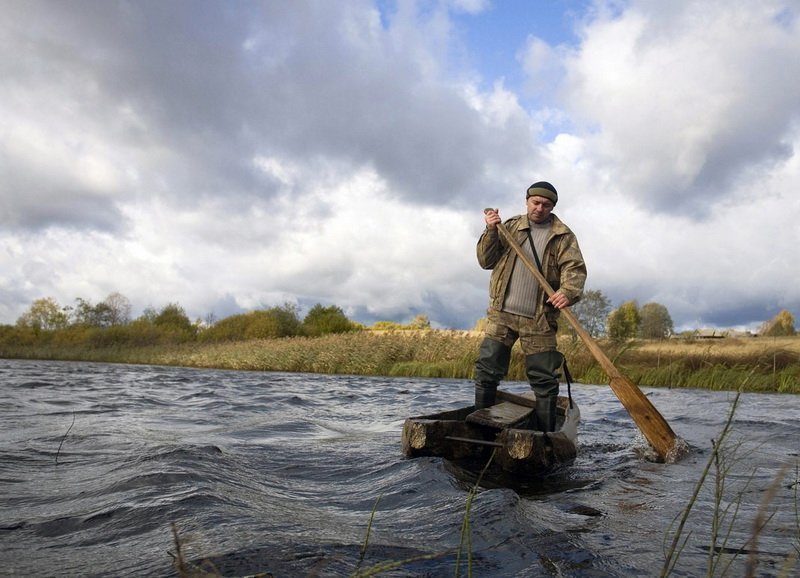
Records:
M497 230L500 232L503 240L505 240L505 242L508 243L512 249L514 249L519 259L528 269L530 269L533 276L547 293L547 296L552 296L555 291L547 282L547 279L545 279L544 275L542 275L541 271L539 271L539 268L522 250L522 247L517 240L511 235L511 233L509 233L505 225L498 223ZM561 310L561 315L565 317L567 321L569 321L570 325L572 325L573 329L575 329L575 332L583 340L587 349L589 349L594 358L600 364L600 367L602 367L603 371L605 371L609 376L611 379L611 390L614 392L620 402L622 402L622 405L633 418L633 421L636 423L636 426L642 432L645 439L647 439L650 445L653 446L653 449L656 451L661 461L673 461L677 459L679 456L675 454L678 452L678 448L676 446L678 438L672 431L672 428L669 427L667 420L665 420L664 417L658 413L658 410L650 402L647 396L642 393L642 390L640 390L630 379L619 372L606 354L603 353L603 350L600 349L600 346L597 345L597 342L592 339L592 336L589 335L589 332L587 332L581 326L580 322L575 317L575 314L572 313L572 311L570 311L568 308L564 308Z

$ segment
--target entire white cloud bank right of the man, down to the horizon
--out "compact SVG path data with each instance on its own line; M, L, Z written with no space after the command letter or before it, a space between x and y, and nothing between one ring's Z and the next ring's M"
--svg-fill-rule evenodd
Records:
M522 58L532 84L560 95L552 117L573 123L546 158L577 203L559 210L590 285L616 304L666 303L679 325L752 328L796 310L796 8L610 6L585 20L580 46L533 39Z

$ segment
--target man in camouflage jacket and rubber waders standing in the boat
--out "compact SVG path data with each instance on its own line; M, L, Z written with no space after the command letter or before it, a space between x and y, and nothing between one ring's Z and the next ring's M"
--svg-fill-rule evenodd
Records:
M536 394L536 421L542 431L554 431L559 368L564 356L556 349L559 311L577 302L586 281L575 234L552 211L556 188L546 181L528 187L527 214L512 217L505 226L539 265L555 293L548 298L516 252L497 230L497 210L484 211L486 230L478 241L478 262L492 269L489 282L489 320L475 363L475 407L494 404L497 386L511 361L511 347L519 340L525 355L525 373Z

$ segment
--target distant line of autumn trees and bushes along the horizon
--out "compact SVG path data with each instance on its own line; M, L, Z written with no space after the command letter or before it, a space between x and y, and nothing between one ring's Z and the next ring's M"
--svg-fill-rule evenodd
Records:
M17 319L16 325L0 326L0 344L78 343L95 347L141 346L166 343L224 342L280 337L318 337L365 329L351 321L336 305L314 305L301 317L291 303L231 315L221 320L191 321L183 307L169 303L157 310L148 307L142 315L131 319L131 303L120 293L111 293L93 304L82 298L75 305L61 306L52 297L34 301ZM664 339L674 334L672 317L664 305L626 301L612 309L602 291L589 289L571 307L581 326L592 337L625 339ZM477 327L480 327L481 321ZM429 329L427 315L417 315L410 323L379 321L376 330ZM577 339L569 323L562 322L562 334ZM786 310L765 322L762 336L795 335L794 316Z

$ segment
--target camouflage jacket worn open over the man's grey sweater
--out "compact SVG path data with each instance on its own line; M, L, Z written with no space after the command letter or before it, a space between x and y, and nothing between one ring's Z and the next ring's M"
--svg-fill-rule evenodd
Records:
M547 239L544 254L539 255L542 271L550 286L566 295L570 305L574 305L583 294L586 282L586 264L575 234L561 220L552 215L553 226ZM529 229L527 215L517 215L505 222L509 233L520 245L528 242ZM517 261L516 252L506 245L497 229L486 229L478 240L478 263L484 269L492 269L489 281L489 309L502 310L511 272ZM524 267L524 263L519 264ZM536 317L545 314L551 326L555 326L558 310L547 305L547 295L539 291Z

